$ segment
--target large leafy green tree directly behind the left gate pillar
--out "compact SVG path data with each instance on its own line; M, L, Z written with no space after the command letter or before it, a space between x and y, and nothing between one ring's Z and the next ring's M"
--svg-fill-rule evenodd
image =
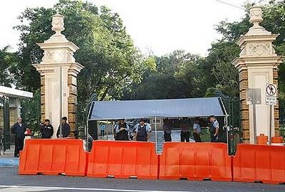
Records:
M105 6L60 0L52 9L26 9L19 16L23 23L15 27L21 32L19 87L38 90L39 75L31 64L39 63L43 52L36 43L53 34L51 16L57 11L65 16L63 34L80 48L75 54L76 61L85 67L78 75L79 102L87 100L93 92L100 100L106 95L118 97L124 87L140 80L145 62L120 16Z

